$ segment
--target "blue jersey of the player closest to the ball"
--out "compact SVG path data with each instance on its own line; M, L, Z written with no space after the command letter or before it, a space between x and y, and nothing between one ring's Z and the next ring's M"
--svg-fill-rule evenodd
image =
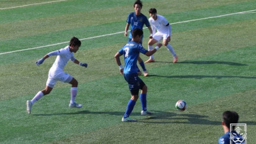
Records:
M141 44L131 41L124 45L118 52L121 55L124 54L124 74L133 74L138 72L137 60L140 52L145 54L148 51Z

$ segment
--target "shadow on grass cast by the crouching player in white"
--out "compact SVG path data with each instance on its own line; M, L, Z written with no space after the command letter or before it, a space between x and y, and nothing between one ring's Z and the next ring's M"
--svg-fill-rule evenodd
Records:
M237 66L247 66L243 63L234 63L230 61L181 61L179 63L189 63L195 65L207 65L207 64L221 64L221 65L237 65Z

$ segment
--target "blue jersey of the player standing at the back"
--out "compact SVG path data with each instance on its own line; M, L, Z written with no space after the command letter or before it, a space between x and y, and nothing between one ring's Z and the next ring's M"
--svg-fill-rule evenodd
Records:
M147 27L150 26L148 19L145 15L140 13L140 15L136 15L135 12L129 13L126 22L131 24L131 31L129 38L132 38L132 30L133 29L141 29L143 30L143 25L145 24Z

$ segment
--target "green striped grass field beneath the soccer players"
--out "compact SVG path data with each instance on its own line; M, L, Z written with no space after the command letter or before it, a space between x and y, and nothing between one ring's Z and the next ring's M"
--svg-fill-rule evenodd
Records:
M0 143L218 143L226 110L237 111L247 142L256 141L256 1L143 0L147 17L154 7L172 23L179 60L171 63L165 47L154 54L150 76L141 76L154 115L141 116L138 100L131 114L138 122L122 123L131 95L114 55L127 42L121 32L133 3L0 0ZM75 57L88 68L69 62L65 72L79 82L83 108L68 108L70 84L59 82L28 115L26 100L44 89L55 57L35 61L72 36L81 39ZM174 108L179 99L184 112Z

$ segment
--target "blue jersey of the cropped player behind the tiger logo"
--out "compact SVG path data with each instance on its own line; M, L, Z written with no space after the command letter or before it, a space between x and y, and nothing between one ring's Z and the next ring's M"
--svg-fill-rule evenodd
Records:
M234 135L234 137L232 138L232 140L230 140L230 131L226 132L223 136L219 138L219 144L230 144L230 141L232 141L232 144L236 144L236 141L239 144L244 144L243 136L237 134L236 131L232 131L232 134Z

